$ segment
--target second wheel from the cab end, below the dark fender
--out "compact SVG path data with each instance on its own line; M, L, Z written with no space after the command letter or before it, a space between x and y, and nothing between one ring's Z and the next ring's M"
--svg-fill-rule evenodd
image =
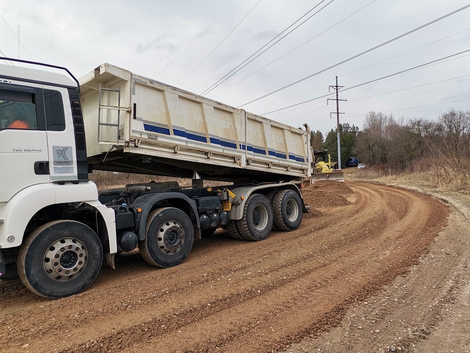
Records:
M176 266L189 255L194 229L189 217L173 207L158 208L148 215L146 237L138 242L143 259L158 267Z

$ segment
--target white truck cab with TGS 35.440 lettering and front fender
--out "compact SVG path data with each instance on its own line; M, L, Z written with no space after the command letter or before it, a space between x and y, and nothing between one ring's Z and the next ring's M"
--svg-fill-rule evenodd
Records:
M58 73L0 66L0 160L3 278L16 275L25 237L79 203L100 219L101 237L115 238L114 212L98 201L88 181L77 82ZM108 252L116 247L106 244Z

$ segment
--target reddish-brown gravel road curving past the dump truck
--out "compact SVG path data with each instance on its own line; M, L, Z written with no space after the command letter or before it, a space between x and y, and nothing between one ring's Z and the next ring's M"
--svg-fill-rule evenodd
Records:
M412 191L347 185L352 190L343 193L348 204L327 207L323 202L321 214L314 212L296 231L273 232L262 242L216 233L196 241L184 263L167 269L153 268L131 253L119 257L116 270L103 267L88 290L69 298L45 300L20 282L0 283L0 351L271 352L288 344L287 349L295 351L359 347L354 342L360 340L360 332L344 336L341 331L348 317L364 300L387 298L387 303L403 300L406 307L416 305L413 291L401 288L393 296L387 288L399 279L407 285L420 266L415 266L420 256L447 227L450 210ZM307 191L306 198L315 191ZM340 190L324 192L337 195ZM458 246L453 244L448 251L458 252ZM456 266L461 256L455 254L447 265L434 268L442 273L430 282L424 280L425 287L444 285L448 266ZM419 281L425 273L416 275L412 289L425 297ZM366 315L367 322L373 320L372 313ZM377 326L375 322L385 325L379 316L370 327ZM383 342L393 343L394 331L376 329L386 335ZM330 346L333 332L346 349ZM383 342L377 344L380 333L372 336L364 334L363 342L368 339L373 351L380 344L383 348ZM403 348L405 343L402 339ZM369 349L364 344L361 347Z

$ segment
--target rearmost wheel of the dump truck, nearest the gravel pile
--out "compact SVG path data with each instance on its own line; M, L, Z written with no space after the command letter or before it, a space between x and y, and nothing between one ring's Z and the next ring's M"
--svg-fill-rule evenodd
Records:
M274 225L280 230L297 229L302 221L302 201L293 190L281 190L272 200Z

